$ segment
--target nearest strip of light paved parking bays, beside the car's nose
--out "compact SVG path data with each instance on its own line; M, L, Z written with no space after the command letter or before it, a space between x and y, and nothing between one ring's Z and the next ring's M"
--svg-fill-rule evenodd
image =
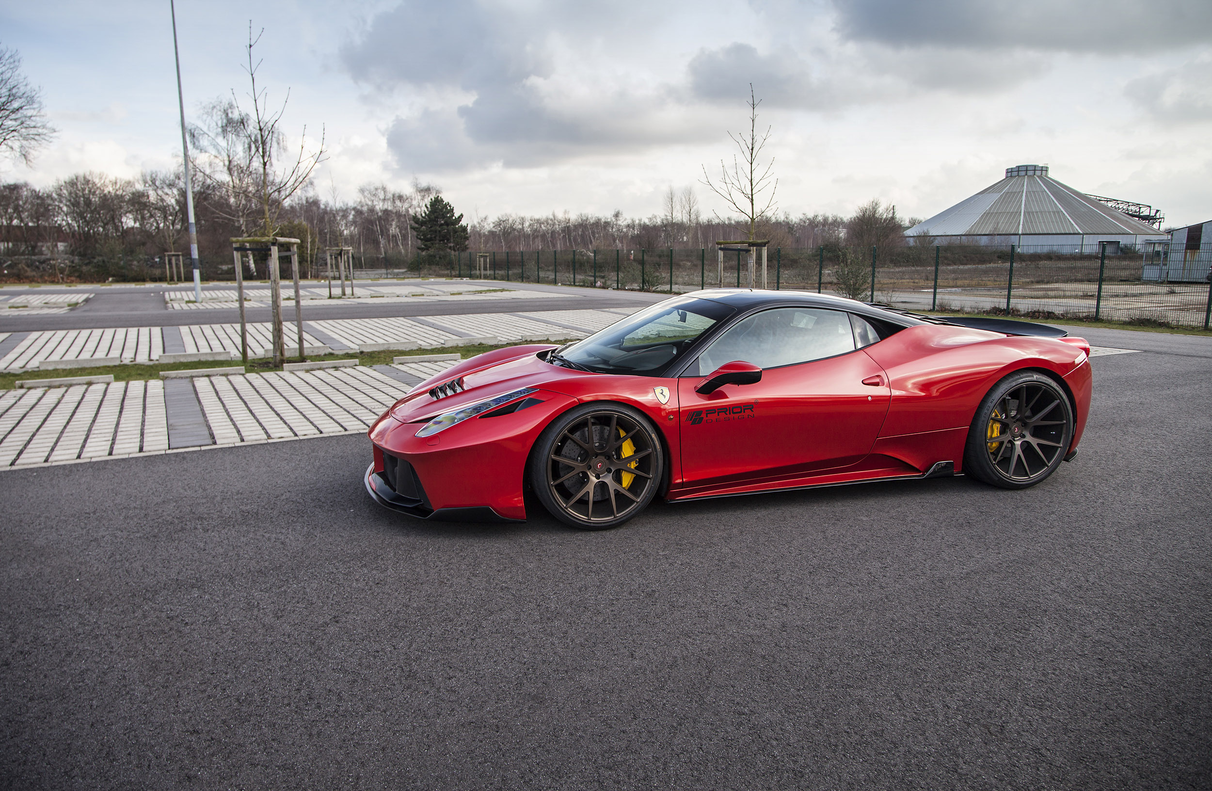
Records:
M365 431L412 384L452 365L4 390L0 470Z

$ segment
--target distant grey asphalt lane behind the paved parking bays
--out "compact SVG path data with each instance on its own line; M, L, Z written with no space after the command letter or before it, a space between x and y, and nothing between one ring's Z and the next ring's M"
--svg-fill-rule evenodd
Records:
M314 286L314 283L309 283ZM367 283L362 283L367 285ZM383 281L381 285L396 285ZM399 285L406 285L400 281ZM388 304L332 304L326 300L303 300L303 320L324 319L382 319L387 316L450 316L480 313L516 313L528 310L589 310L596 308L642 308L667 299L668 294L613 291L541 283L505 283L482 281L469 287L509 287L515 291L545 291L560 294L539 299L435 299L398 302ZM207 291L234 288L233 283L210 286ZM282 285L284 296L291 286ZM65 288L13 290L0 293L50 293L73 291ZM0 332L27 332L36 329L95 329L105 327L178 327L199 323L235 323L240 321L239 309L206 308L201 310L171 310L164 304L162 286L120 287L80 286L74 291L92 291L93 297L82 305L63 314L28 315L19 310L0 311ZM181 291L173 287L172 291ZM12 314L12 315L8 315ZM269 308L245 308L247 321L269 321ZM284 316L295 320L295 303L284 305Z

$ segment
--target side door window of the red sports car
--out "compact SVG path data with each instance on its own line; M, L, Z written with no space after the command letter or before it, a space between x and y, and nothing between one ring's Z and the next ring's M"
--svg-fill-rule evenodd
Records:
M725 362L743 360L761 368L778 368L853 351L850 314L817 308L774 308L742 320L711 342L698 356L698 367L685 376L705 377ZM875 339L879 339L873 331Z

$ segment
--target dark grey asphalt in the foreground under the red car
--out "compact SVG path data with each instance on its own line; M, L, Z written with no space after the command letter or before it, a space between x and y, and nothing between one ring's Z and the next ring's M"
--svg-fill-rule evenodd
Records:
M0 786L1212 786L1212 342L1081 455L653 506L375 506L362 437L0 474ZM491 475L491 470L469 475Z

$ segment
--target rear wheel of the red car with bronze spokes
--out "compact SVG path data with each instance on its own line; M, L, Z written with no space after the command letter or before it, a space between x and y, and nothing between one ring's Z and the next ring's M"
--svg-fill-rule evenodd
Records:
M1004 489L1025 489L1060 466L1073 441L1073 407L1056 380L1018 371L995 384L972 419L964 472Z

